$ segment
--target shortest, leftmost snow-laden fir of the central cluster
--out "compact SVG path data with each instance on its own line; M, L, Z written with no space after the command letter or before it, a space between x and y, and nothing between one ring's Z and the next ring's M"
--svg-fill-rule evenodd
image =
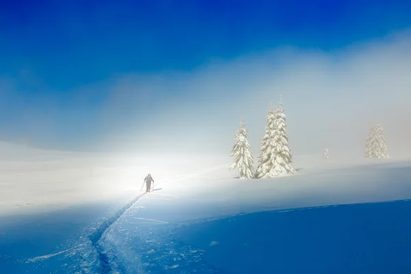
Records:
M240 179L253 178L254 163L253 153L251 153L251 147L247 140L248 131L245 129L245 123L240 123L240 129L236 132L234 145L232 148L231 157L234 158L234 163L229 166L229 169L238 169L240 173Z

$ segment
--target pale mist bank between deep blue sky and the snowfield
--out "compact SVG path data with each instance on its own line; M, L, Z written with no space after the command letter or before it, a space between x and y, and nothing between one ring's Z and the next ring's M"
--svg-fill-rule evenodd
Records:
M281 47L210 60L190 72L120 73L74 90L75 108L45 96L27 102L14 95L16 79L2 77L1 105L25 108L10 116L3 132L13 135L3 139L57 149L229 154L244 119L257 154L269 105L282 95L293 155L328 147L361 156L369 127L381 123L390 155L405 157L411 153L410 71L408 30L340 51ZM23 75L41 84L30 71ZM90 112L88 103L102 96Z

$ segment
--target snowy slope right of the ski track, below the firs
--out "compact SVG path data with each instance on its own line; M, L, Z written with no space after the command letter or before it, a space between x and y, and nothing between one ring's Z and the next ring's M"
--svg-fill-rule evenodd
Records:
M292 209L409 199L411 162L245 182L227 179L224 174L223 170L214 171L188 178L191 184L184 180L164 184L139 199L99 240L97 253L105 254L101 269L119 273L273 273L273 269L301 273L310 267L311 271L304 273L319 273L320 269L323 273L346 273L345 268L354 271L350 273L374 273L376 265L381 265L351 264L340 258L339 254L347 251L343 245L347 252L360 255L371 248L393 250L404 240L399 235L405 236L406 229L396 224L408 214L409 202L377 205L375 209L361 205L303 212ZM375 210L380 208L387 215L378 219ZM256 214L271 210L276 211ZM397 219L392 217L394 210L399 214ZM384 218L393 225L384 223ZM349 225L353 221L358 223ZM382 225L385 230L373 225ZM411 222L405 227L411 227ZM331 229L328 234L326 229ZM384 231L392 245L381 240ZM374 233L376 242L357 239L367 233ZM351 235L357 242L341 242ZM329 253L333 244L336 250ZM318 249L321 247L324 249ZM384 257L384 250L371 254L377 260ZM295 258L301 264L290 265ZM321 263L326 258L329 262ZM391 264L385 270L401 273L393 256L388 262ZM398 263L411 266L405 261Z

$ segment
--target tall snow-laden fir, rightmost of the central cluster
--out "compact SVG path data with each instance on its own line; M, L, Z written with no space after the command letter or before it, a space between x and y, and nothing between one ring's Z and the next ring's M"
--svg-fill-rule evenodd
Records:
M286 114L282 101L279 102L279 108L275 110L275 131L274 131L274 153L275 158L273 169L270 172L270 177L286 176L295 173L295 169L291 166L292 155L290 147L288 147L288 135L286 125Z

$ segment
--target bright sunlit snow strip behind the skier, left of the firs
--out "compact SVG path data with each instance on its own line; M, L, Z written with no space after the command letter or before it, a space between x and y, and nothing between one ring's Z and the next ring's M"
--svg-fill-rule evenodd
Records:
M154 186L214 166L219 158L132 153L42 151L0 142L0 215L58 209L142 193L150 173ZM221 159L220 159L221 160ZM224 161L224 160L223 160Z

